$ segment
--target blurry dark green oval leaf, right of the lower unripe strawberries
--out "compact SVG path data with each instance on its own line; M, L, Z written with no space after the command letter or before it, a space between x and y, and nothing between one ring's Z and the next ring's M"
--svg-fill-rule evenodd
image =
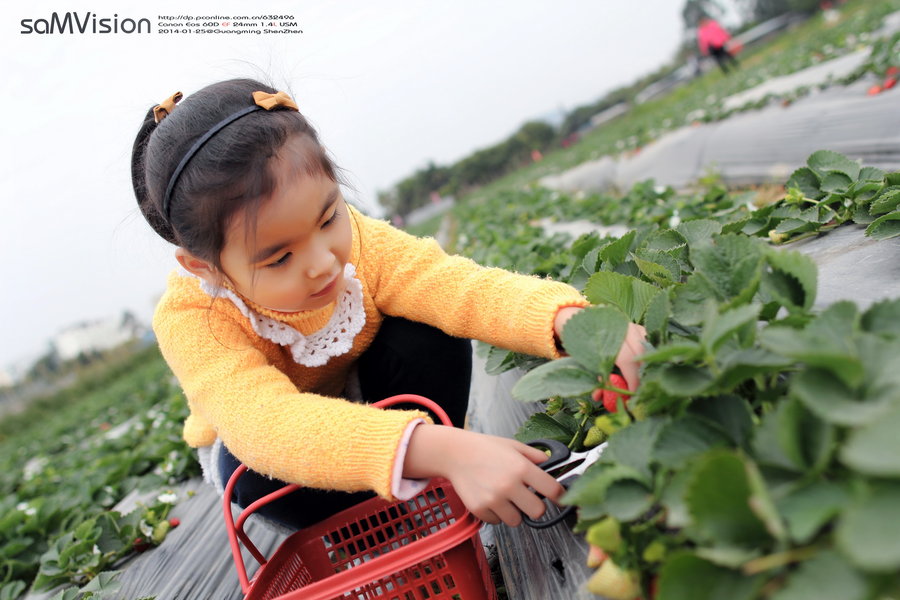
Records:
M765 525L750 508L752 490L741 457L715 451L700 461L685 500L702 537L723 546L770 542Z

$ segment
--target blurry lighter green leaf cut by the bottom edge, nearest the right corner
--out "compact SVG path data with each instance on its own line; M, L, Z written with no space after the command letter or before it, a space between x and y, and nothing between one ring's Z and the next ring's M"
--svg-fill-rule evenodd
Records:
M865 576L832 551L824 551L802 563L788 575L785 586L772 600L866 600Z

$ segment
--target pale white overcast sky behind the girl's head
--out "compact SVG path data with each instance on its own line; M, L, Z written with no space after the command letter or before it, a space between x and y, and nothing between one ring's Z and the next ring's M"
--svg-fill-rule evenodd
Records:
M0 15L0 369L60 330L149 324L174 248L137 210L134 136L148 108L233 77L289 91L349 176L376 195L523 122L631 83L681 42L683 0L13 3ZM124 8L123 8L124 7ZM135 7L135 8L131 8ZM187 8L189 7L189 8ZM252 7L252 8L248 8ZM53 11L149 19L144 35L22 34ZM159 17L288 14L302 33L173 35ZM221 27L221 26L220 26ZM177 109L176 109L177 110Z

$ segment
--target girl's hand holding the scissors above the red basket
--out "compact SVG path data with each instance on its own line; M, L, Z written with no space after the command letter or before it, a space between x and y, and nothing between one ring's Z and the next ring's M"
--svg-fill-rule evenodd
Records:
M545 460L543 451L516 440L425 424L410 438L403 476L446 477L476 517L515 527L522 513L532 519L544 514L537 493L556 502L565 491L537 466Z

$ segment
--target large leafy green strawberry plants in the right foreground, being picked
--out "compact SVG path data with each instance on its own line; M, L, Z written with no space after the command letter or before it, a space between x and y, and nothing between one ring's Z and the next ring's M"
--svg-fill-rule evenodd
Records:
M488 366L530 368L513 395L545 402L519 439L608 441L564 498L599 567L590 589L896 597L900 300L816 312L815 264L767 242L848 221L896 235L898 185L896 173L820 151L773 205L720 198L707 218L697 208L678 222L679 196L661 191L621 238L583 236L548 254L594 304L567 323L568 356L536 363L490 348ZM682 197L679 210L702 204ZM613 360L628 321L645 326L648 349L640 388L613 412L602 399L620 391Z

